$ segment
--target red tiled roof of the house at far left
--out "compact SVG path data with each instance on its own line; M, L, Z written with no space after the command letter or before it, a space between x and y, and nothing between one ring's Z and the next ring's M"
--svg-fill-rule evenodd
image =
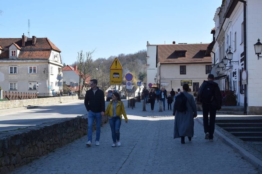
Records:
M22 47L22 38L0 38L0 47L3 50L0 59L9 58L11 44L21 49L18 59L48 59L52 50L61 52L48 38L36 38L35 45L32 45L32 38L28 38L25 47Z

